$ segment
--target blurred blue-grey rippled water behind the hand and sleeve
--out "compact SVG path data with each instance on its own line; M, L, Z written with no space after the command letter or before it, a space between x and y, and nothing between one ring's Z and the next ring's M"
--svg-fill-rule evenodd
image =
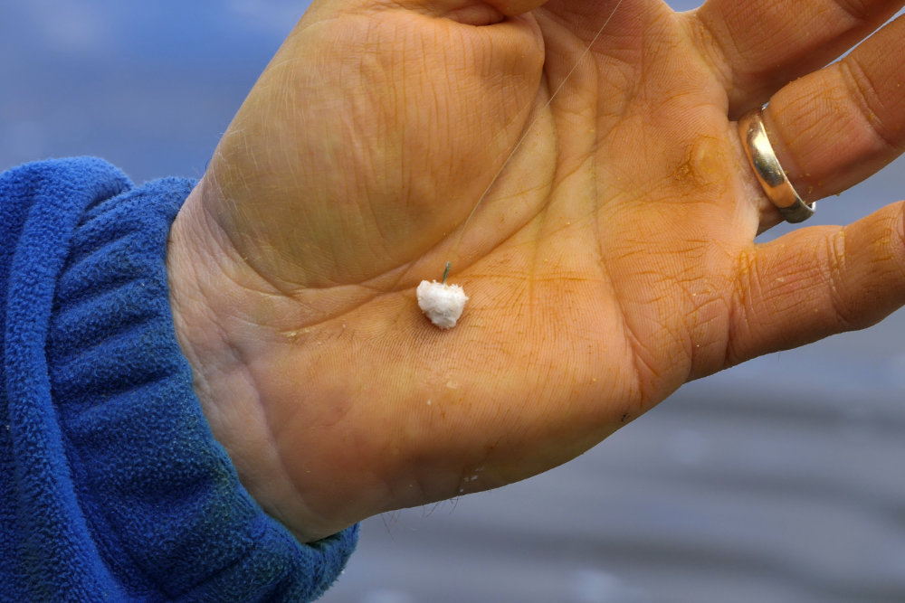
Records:
M200 176L303 7L0 0L0 168L100 155L139 182ZM899 161L812 223L902 198ZM544 476L369 520L323 600L905 601L903 335L900 312L757 359Z

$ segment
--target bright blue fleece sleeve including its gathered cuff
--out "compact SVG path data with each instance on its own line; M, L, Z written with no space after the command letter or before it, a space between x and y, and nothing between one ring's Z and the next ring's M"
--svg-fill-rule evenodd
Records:
M192 185L0 174L0 600L306 601L355 546L296 541L205 421L164 264Z

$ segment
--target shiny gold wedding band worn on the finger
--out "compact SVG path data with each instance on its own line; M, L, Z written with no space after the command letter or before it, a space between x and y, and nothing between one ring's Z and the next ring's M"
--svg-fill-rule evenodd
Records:
M805 221L814 215L816 203L808 205L795 193L795 188L789 182L782 165L779 165L767 137L764 121L761 119L762 110L763 108L757 108L748 111L738 120L741 146L745 148L745 155L748 155L748 163L754 168L757 182L783 218L792 223Z

